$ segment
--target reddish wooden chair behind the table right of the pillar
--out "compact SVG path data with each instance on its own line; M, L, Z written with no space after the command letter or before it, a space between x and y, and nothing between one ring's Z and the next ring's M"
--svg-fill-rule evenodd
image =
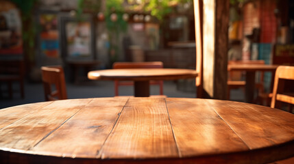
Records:
M228 61L228 65L233 65L233 64L265 64L264 60L241 60L241 61ZM241 80L243 77L243 72L241 71L229 71L228 72L228 94L227 94L227 99L230 100L230 92L232 89L240 88L243 87L245 88L246 81ZM258 89L258 93L264 93L264 85L263 85L263 77L264 77L264 72L260 72L260 79L259 82L256 83L256 89Z

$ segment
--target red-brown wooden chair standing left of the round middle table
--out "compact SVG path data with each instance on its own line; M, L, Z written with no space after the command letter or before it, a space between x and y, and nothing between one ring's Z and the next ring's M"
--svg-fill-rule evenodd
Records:
M45 100L67 99L63 68L61 66L42 66L41 70Z

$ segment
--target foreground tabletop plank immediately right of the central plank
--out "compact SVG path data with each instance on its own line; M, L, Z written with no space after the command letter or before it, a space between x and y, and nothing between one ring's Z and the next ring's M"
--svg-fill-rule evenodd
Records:
M167 107L182 157L249 150L207 100L167 98Z

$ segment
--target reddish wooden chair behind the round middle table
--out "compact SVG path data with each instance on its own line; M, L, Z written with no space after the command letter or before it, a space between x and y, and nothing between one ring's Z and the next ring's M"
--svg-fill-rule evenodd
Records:
M114 62L112 68L163 68L161 61L151 62ZM121 85L134 85L133 81L114 81L114 94L119 96L119 86ZM159 85L160 95L163 95L163 81L150 81L150 85Z

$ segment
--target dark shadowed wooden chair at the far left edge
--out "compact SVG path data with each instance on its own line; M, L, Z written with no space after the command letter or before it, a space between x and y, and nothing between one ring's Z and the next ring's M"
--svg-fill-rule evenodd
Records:
M21 98L25 98L24 92L24 64L23 60L1 60L0 61L0 82L8 84L8 95L12 98L12 83L19 82Z

